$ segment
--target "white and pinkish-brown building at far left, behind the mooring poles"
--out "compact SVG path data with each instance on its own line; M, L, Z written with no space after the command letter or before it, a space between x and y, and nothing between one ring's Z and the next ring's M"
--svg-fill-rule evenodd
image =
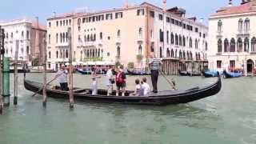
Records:
M5 30L5 55L14 62L16 42L18 42L18 62L28 66L42 63L44 51L43 40L46 36L46 27L36 20L27 18L15 19L9 22L0 22Z

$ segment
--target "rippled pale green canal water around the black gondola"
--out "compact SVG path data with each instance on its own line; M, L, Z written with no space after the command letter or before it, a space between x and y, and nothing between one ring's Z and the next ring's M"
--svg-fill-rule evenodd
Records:
M53 74L48 74L49 79ZM42 74L27 74L42 82ZM134 88L129 77L128 89ZM179 89L204 86L217 78L173 77ZM13 75L11 75L13 82ZM255 144L256 78L223 79L213 97L176 106L131 106L31 98L18 81L18 106L0 116L0 144ZM164 78L159 89L168 90ZM74 74L75 86L90 86L90 77ZM99 81L104 88L105 78ZM13 93L13 83L11 84ZM11 101L13 98L11 98Z

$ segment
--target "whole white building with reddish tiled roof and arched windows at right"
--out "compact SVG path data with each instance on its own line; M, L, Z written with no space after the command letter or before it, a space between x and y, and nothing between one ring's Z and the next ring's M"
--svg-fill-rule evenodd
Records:
M256 62L256 1L219 8L210 16L209 67L253 74Z

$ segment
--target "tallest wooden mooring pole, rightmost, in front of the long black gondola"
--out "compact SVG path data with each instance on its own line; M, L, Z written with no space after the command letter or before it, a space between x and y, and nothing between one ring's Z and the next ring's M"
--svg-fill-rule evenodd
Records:
M73 94L73 65L72 65L72 38L71 38L71 28L69 27L67 30L68 34L68 42L69 42L69 86L70 86L70 109L74 108L74 94Z

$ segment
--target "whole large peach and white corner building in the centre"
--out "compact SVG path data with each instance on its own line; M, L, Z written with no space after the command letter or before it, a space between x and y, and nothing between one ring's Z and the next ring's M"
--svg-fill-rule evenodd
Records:
M143 2L92 13L54 14L47 26L48 66L58 69L68 62L70 27L74 62L134 62L145 68L150 54L155 54L163 58L166 73L177 74L188 68L187 62L206 61L208 28L196 18L185 18L185 13Z

